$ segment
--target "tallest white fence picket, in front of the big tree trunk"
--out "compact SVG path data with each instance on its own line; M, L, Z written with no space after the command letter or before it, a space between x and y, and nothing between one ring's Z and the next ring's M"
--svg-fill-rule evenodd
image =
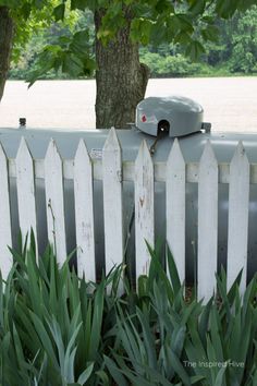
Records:
M102 149L106 270L123 262L122 158L114 128Z

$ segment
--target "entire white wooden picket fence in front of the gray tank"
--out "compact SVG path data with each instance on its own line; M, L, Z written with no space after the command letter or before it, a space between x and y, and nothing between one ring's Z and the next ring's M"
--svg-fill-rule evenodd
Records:
M250 172L252 171L252 172ZM15 159L7 159L0 147L0 267L5 277L12 258L9 177L16 178L19 220L22 234L30 228L37 239L35 179L45 179L48 239L56 245L60 263L66 257L63 180L74 181L75 228L78 274L95 280L94 179L102 180L106 270L121 264L124 255L123 181L134 181L136 276L147 274L154 245L155 181L166 182L167 241L180 278L185 278L185 183L198 183L198 297L207 300L216 287L218 251L218 184L229 183L228 287L241 268L241 289L246 286L249 183L257 183L257 167L249 165L242 143L231 164L218 165L211 144L206 143L199 164L185 164L175 140L167 162L155 162L144 141L135 162L122 162L122 149L111 129L102 160L93 161L81 140L74 160L62 161L57 145L49 143L45 159L33 159L22 138ZM8 257L8 258L7 258Z

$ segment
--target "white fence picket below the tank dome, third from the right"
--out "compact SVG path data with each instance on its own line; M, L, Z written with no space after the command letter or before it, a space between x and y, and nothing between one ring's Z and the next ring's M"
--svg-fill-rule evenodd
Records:
M183 282L185 280L185 161L176 138L167 161L166 179L167 242Z

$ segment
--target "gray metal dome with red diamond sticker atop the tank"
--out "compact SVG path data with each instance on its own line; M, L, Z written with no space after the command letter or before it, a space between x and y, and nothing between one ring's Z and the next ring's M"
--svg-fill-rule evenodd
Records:
M183 96L149 97L136 108L136 128L157 136L183 136L199 132L203 128L204 109L193 99Z

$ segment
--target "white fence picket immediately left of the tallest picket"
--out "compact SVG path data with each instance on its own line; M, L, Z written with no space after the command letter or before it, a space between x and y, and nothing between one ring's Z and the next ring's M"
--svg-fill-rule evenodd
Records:
M74 159L74 200L77 245L77 273L96 280L93 170L85 142L79 141Z

